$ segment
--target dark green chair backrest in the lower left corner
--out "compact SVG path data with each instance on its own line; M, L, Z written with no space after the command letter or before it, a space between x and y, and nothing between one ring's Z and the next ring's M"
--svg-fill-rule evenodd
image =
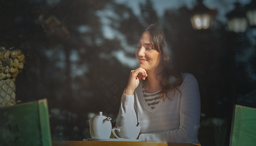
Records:
M0 108L0 146L52 146L46 99Z

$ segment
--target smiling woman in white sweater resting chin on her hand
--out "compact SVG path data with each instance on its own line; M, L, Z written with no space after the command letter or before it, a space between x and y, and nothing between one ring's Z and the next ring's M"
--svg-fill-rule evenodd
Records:
M143 30L122 98L116 126L136 126L147 142L199 143L200 94L196 78L171 69L163 29Z

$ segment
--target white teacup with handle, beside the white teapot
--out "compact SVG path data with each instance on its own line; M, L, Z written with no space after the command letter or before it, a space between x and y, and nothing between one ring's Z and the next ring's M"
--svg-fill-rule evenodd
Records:
M115 130L118 131L118 137L115 133ZM112 129L112 133L118 139L136 139L140 133L140 127L117 127Z

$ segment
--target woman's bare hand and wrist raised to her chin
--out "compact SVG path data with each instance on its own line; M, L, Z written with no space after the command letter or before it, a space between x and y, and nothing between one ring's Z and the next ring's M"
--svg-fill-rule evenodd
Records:
M125 89L125 95L133 95L134 90L138 87L140 83L140 79L145 80L147 77L147 72L143 68L138 68L136 70L132 70L129 76L128 84Z

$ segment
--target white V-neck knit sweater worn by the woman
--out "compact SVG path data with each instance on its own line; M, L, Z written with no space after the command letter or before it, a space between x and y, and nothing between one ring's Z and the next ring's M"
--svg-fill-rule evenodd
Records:
M200 94L196 78L190 73L181 73L183 83L176 91L168 93L172 99L161 100L150 108L142 93L142 82L134 94L121 98L116 126L136 126L139 122L140 137L147 142L198 143L200 122Z

